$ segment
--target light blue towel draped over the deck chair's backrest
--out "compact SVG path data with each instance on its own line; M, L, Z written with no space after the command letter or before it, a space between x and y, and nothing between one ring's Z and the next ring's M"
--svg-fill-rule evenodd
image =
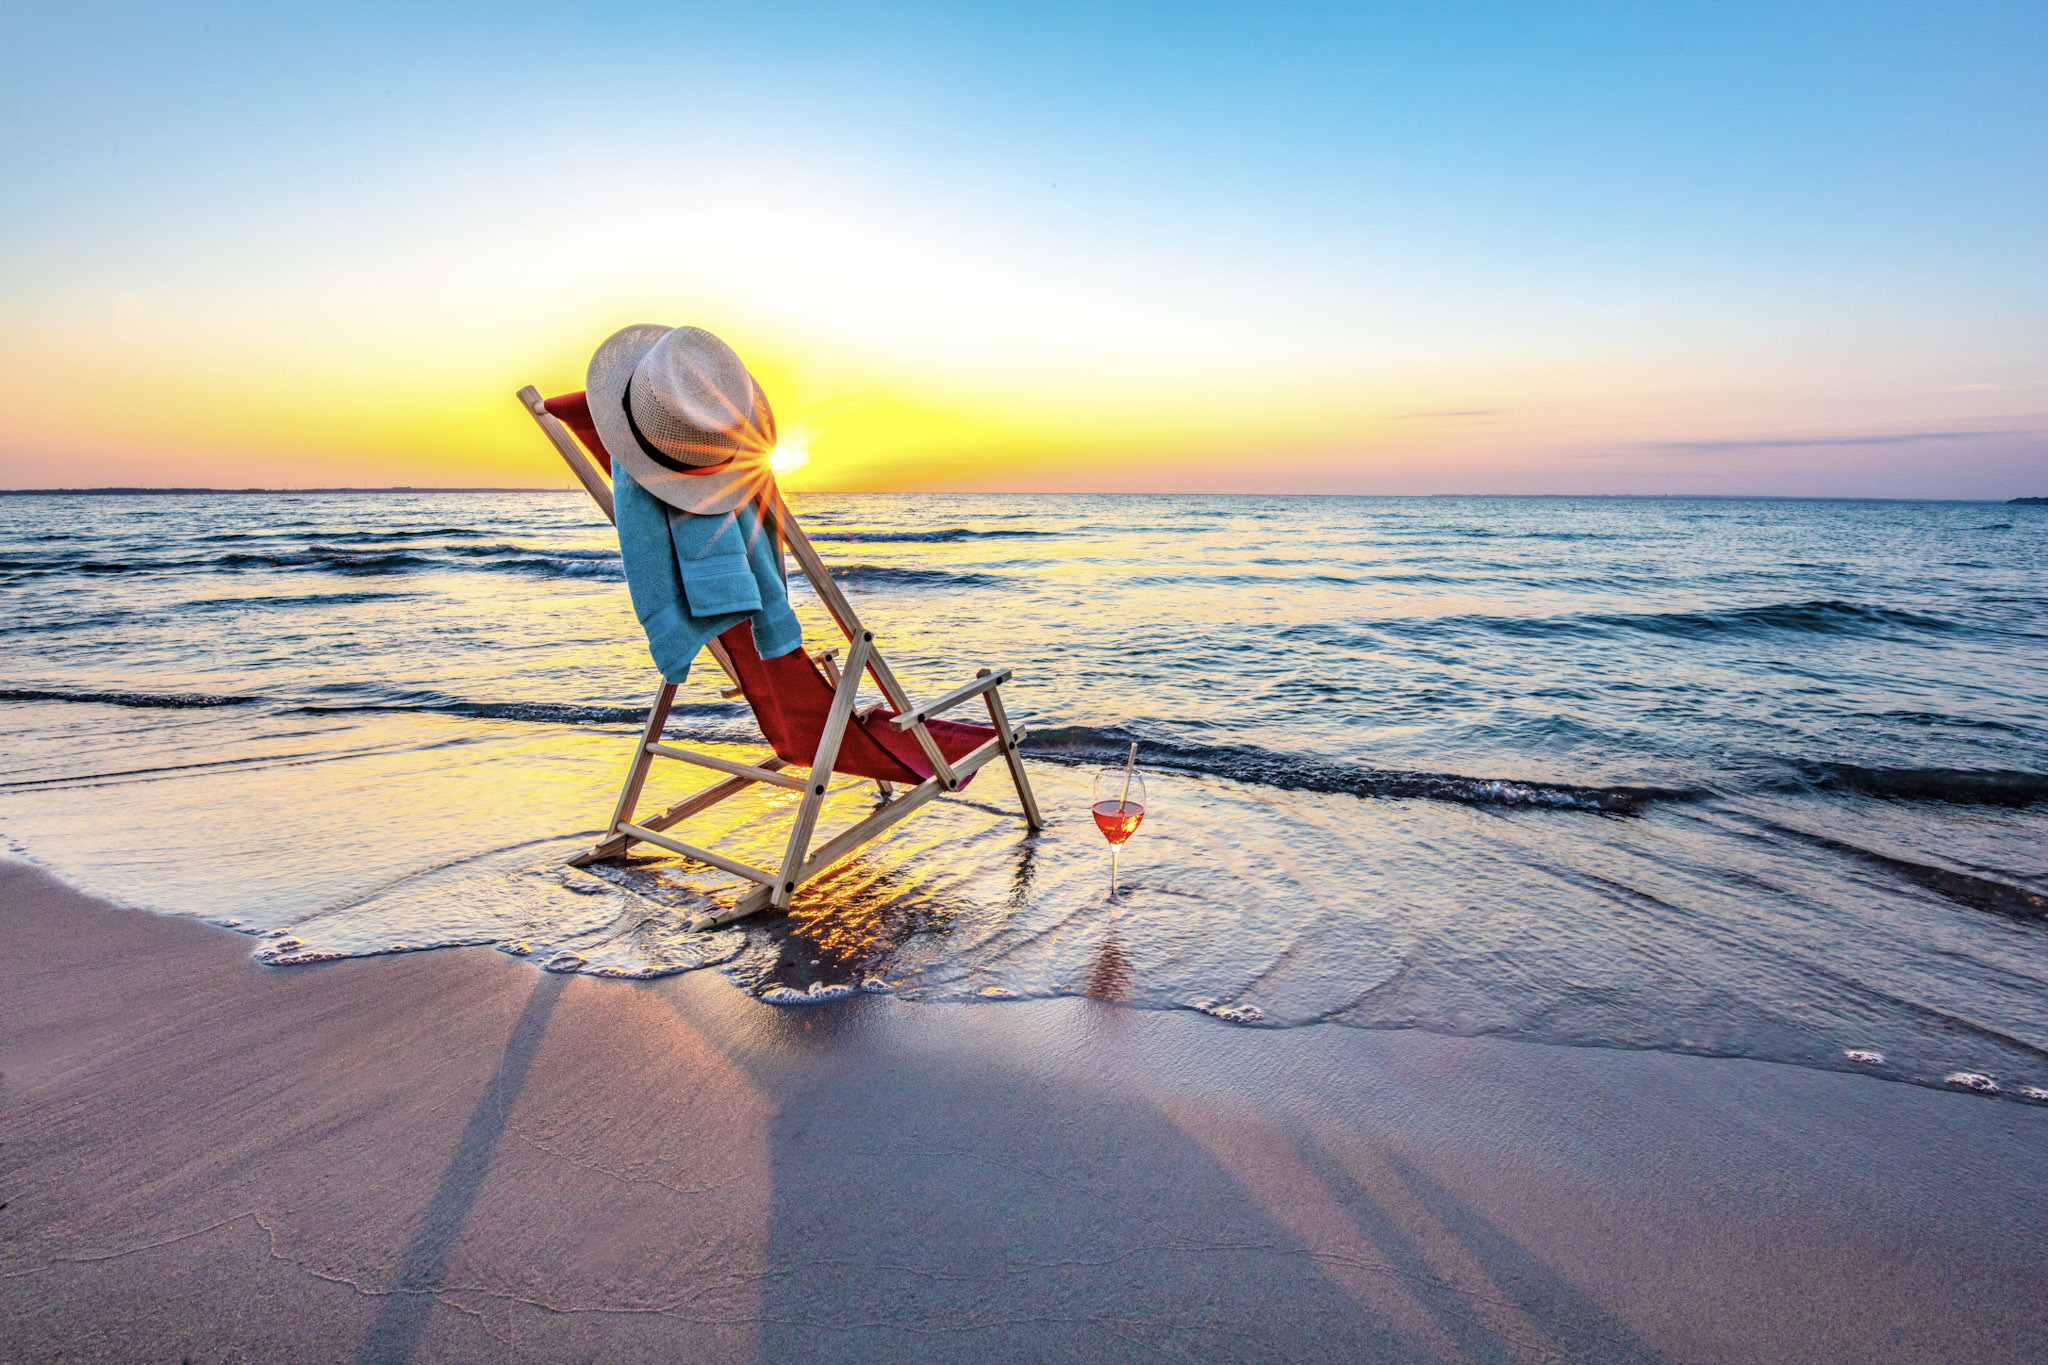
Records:
M662 677L684 681L705 643L750 616L762 659L803 645L782 583L782 548L762 530L754 503L719 516L678 512L612 465L612 512L633 614Z

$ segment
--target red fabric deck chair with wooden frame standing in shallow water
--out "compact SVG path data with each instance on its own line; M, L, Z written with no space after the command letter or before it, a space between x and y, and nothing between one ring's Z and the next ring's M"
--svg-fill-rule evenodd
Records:
M590 403L584 395L563 393L543 399L539 389L528 385L518 391L518 399L561 458L567 460L584 489L590 491L590 497L604 510L604 516L616 520L610 485L612 460L590 422ZM1032 831L1044 829L1030 778L1024 774L1024 759L1018 755L1024 731L1012 726L1004 710L1001 686L1010 681L1010 669L981 669L973 681L913 704L874 645L874 632L854 614L846 593L831 581L825 561L817 557L803 526L791 516L780 489L774 489L772 483L768 487L770 491L760 501L762 526L788 546L803 577L817 591L817 600L846 634L844 661L838 661L838 649L817 655L797 649L778 659L762 659L760 651L754 649L752 622L739 622L715 639L707 651L733 684L723 696L748 700L772 753L754 763L739 763L664 743L662 731L676 700L676 684L664 681L647 710L647 724L633 749L627 780L618 788L618 802L612 806L612 819L606 823L602 839L594 849L571 860L573 866L582 868L621 857L635 843L651 843L756 882L733 905L694 917L692 929L711 929L770 907L788 909L799 886L879 839L934 796L961 790L995 755L1001 755L1010 765L1010 780L1016 784L1018 804L1024 808L1024 825ZM856 710L854 702L862 677L874 679L883 700ZM942 714L975 698L981 698L987 708L989 724L940 720ZM727 776L659 814L637 819L641 788L647 784L653 759L694 763ZM825 788L834 774L872 780L881 804L866 819L811 847ZM756 784L803 792L778 868L756 868L664 833ZM907 790L897 792L897 788Z

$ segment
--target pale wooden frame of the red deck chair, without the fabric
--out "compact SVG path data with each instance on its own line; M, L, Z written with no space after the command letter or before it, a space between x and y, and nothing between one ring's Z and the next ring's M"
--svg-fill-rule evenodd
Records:
M518 391L518 401L541 426L541 432L547 436L549 444L555 446L555 452L567 460L569 469L575 473L578 481L598 503L604 516L616 522L618 518L612 510L610 481L604 477L604 471L596 467L567 424L547 411L541 391L528 385ZM1024 757L1018 753L1024 729L1012 726L1010 712L1004 710L1001 686L1010 681L1012 671L981 669L975 681L963 684L952 692L932 698L930 702L913 704L909 694L903 692L903 684L897 681L895 669L889 667L881 649L874 645L874 632L860 624L860 616L854 614L854 608L846 600L846 593L840 591L840 585L831 581L831 573L825 569L825 561L819 559L817 551L811 546L811 538L803 534L803 526L799 526L797 518L791 516L788 505L782 501L782 491L770 483L770 493L762 497L758 505L762 512L762 524L772 528L772 534L788 546L788 553L803 571L803 577L809 579L811 587L817 591L817 600L825 604L825 612L831 614L831 620L846 634L844 665L836 663L836 649L813 655L813 659L823 667L825 679L834 686L834 696L831 710L825 716L825 731L819 737L817 753L811 757L809 772L799 776L793 765L776 753L770 753L758 763L737 763L713 753L696 753L692 749L662 743L662 731L668 724L668 712L676 700L676 684L664 681L655 692L653 706L647 710L647 724L633 749L633 761L627 765L627 780L618 788L618 802L612 806L612 819L604 827L604 839L588 853L569 860L571 866L584 868L608 857L621 857L635 843L651 843L668 849L670 853L680 853L692 862L700 862L737 878L756 882L754 890L739 896L731 907L692 919L692 929L711 929L770 907L788 909L788 902L797 894L799 886L852 855L872 839L879 839L895 823L930 802L934 796L958 790L969 776L995 759L997 753L1010 765L1010 780L1016 784L1018 804L1024 808L1024 825L1032 833L1044 829L1044 821L1038 814L1038 798L1032 794L1030 778L1024 774ZM707 651L733 684L723 692L723 696L743 696L739 690L739 673L733 669L733 661L725 653L725 647L719 645L719 641L711 641ZM831 765L840 757L840 745L846 739L846 729L854 720L854 702L858 700L864 677L872 677L887 704L895 708L897 716L891 724L899 731L909 731L918 741L918 747L924 749L924 757L932 765L932 776L901 794L897 794L887 782L877 782L881 788L881 804L866 819L825 839L817 847L811 847L811 837L817 833L817 814L825 802L825 788L831 782ZM926 720L971 702L977 696L983 706L987 706L989 722L995 726L995 735L965 757L948 763L946 755L938 747L938 741L932 737L932 731L926 726ZM635 821L641 788L645 788L647 774L657 757L692 763L696 767L711 767L727 776L723 782L682 798L655 817ZM782 851L780 868L756 868L739 862L737 857L727 857L713 849L684 843L682 839L662 833L756 784L803 792L803 804L797 808L797 821L788 831L788 843Z

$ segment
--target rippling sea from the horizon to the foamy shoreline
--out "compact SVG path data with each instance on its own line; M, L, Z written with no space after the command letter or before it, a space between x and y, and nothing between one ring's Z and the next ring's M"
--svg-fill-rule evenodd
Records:
M788 917L688 933L723 874L563 866L657 684L590 501L279 493L0 499L0 841L281 972L487 943L786 1003L1085 995L2048 1099L2048 508L793 505L913 696L1016 669L1047 831L995 765ZM762 753L717 686L670 733ZM1090 784L1128 741L1110 900ZM766 857L793 800L678 833ZM842 784L825 829L870 800Z

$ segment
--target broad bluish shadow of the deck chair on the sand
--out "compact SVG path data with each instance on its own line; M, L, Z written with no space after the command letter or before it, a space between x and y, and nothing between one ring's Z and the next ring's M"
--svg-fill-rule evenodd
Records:
M872 1007L811 1042L864 1050ZM1657 1359L1413 1164L1368 1187L1300 1126L1251 1113L1233 1148L1147 1083L983 1052L825 1066L784 1109L756 1359ZM1276 1197L1298 1171L1317 1193Z

